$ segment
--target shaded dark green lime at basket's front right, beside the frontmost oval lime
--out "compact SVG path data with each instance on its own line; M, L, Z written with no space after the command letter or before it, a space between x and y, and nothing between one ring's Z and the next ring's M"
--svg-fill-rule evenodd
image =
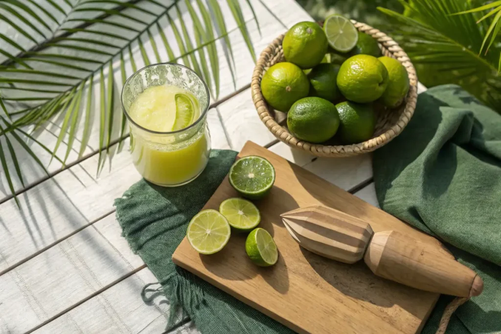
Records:
M344 145L357 144L372 138L376 126L376 116L371 104L350 101L338 103L341 124L339 138Z

